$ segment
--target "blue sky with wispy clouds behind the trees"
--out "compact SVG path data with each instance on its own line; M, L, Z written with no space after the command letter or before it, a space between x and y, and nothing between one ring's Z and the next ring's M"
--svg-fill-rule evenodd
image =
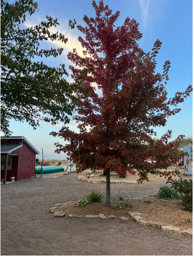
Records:
M97 1L98 2L98 1ZM192 84L192 0L104 0L109 8L115 13L120 10L120 16L116 21L116 26L123 24L126 17L134 18L139 23L139 31L143 33L143 38L139 41L140 47L144 51L151 51L156 39L162 41L162 48L157 56L157 72L163 71L163 64L166 60L171 61L169 72L169 81L166 85L168 96L173 97L175 92L183 92ZM32 16L27 16L27 26L37 25L42 20L46 20L46 15L57 18L60 25L55 31L61 31L66 34L68 30L68 20L76 19L77 24L85 26L83 22L84 14L88 17L95 17L95 11L92 7L92 0L38 0L39 12ZM73 48L77 48L81 54L81 46L77 40L81 33L75 28L68 31L68 43L61 44L57 42L43 42L42 48L63 47L64 52L57 58L45 58L43 61L50 66L59 66L65 63L66 69L71 64L67 60L67 53ZM43 59L43 58L42 58ZM69 72L70 74L70 72ZM67 79L71 82L70 75ZM193 95L179 104L182 111L175 116L168 118L165 127L155 128L157 137L161 137L167 130L172 130L172 140L178 135L192 135L192 102ZM62 123L53 126L48 123L40 123L41 128L33 130L28 123L19 123L10 121L10 129L13 136L22 135L36 147L39 152L43 148L44 159L64 159L65 154L55 154L55 142L65 144L58 138L49 135L50 132L60 129ZM71 121L68 125L76 131L75 122ZM1 133L1 136L3 134Z

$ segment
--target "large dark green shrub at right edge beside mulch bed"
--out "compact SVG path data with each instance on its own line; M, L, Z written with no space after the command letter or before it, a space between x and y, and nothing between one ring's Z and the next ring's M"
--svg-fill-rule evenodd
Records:
M187 211L193 211L193 180L183 180L180 177L180 180L175 181L172 187L179 193L181 205Z

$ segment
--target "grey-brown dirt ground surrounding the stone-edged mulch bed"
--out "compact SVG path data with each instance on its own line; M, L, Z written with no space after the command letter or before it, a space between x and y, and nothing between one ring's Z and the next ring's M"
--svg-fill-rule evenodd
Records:
M1 185L1 255L192 255L190 236L122 220L54 217L52 205L78 201L94 189L106 192L106 184L76 178L71 173ZM111 199L155 195L162 185L111 184Z

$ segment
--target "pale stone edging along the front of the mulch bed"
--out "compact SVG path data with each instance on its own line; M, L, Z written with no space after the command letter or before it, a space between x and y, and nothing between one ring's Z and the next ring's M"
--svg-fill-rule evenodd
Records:
M115 201L115 200L114 200ZM53 205L53 207L50 208L50 213L54 214L55 217L64 217L67 216L67 214L65 214L63 211L58 211L58 207L61 205L67 205L68 203L74 203L74 202L66 202L63 204L56 204ZM191 228L188 229L184 229L181 230L179 227L174 227L172 225L165 225L163 223L159 223L159 222L155 222L155 221L146 221L143 217L142 217L142 213L138 213L138 212L131 212L131 211L126 211L128 214L128 218L121 216L119 217L121 220L132 220L135 221L138 224L141 225L146 225L149 227L153 227L153 228L157 228L157 229L161 229L164 231L171 231L174 232L176 234L184 234L184 235L189 235L189 236L193 236L193 230ZM73 215L70 214L68 215L68 217L72 218L72 217L76 217L76 218L81 218L81 217L86 217L86 218L101 218L101 219L119 219L118 217L114 216L114 215L110 215L110 216L105 216L104 214L98 214L98 215Z

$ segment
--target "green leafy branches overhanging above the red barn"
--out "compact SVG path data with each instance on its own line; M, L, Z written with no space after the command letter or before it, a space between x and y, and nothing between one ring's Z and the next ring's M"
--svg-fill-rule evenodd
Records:
M51 33L49 28L59 25L57 19L47 16L47 21L35 27L21 29L26 21L25 13L32 15L38 9L33 0L17 0L9 3L1 0L0 46L1 46L1 131L10 135L9 120L29 122L36 129L39 120L56 124L58 120L68 123L75 107L72 92L79 83L68 83L65 65L49 67L34 57L57 57L63 48L39 49L40 41L57 40L67 43L68 38L60 32ZM76 21L69 20L73 29Z

